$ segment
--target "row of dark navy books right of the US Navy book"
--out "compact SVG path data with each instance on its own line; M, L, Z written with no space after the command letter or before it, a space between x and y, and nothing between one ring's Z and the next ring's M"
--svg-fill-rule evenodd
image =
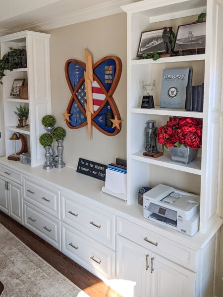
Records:
M204 84L187 86L185 109L188 111L203 111Z

